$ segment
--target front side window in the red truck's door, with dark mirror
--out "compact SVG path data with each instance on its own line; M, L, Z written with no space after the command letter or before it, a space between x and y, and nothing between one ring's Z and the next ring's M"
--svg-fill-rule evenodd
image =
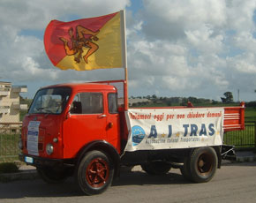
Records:
M102 114L103 97L101 93L79 93L71 108L72 114Z

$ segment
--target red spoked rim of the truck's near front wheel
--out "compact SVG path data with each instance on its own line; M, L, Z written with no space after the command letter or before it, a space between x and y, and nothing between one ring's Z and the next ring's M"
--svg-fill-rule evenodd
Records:
M109 179L109 164L96 158L87 167L87 182L94 188L102 187Z

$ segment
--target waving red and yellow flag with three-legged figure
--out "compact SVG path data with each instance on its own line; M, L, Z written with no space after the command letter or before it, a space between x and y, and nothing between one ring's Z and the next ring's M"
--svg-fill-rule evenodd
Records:
M120 15L50 21L44 46L52 64L76 71L123 67Z

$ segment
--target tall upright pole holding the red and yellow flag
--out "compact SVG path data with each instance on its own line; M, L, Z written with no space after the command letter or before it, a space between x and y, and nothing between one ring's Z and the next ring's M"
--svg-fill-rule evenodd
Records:
M127 71L127 50L126 50L126 25L125 11L120 11L121 16L121 36L122 36L122 62L124 66L124 110L128 109L128 71Z

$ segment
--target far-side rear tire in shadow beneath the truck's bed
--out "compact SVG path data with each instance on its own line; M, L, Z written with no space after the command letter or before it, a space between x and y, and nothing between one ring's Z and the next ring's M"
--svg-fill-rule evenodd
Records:
M140 165L149 175L164 175L171 169L167 162L147 162Z

